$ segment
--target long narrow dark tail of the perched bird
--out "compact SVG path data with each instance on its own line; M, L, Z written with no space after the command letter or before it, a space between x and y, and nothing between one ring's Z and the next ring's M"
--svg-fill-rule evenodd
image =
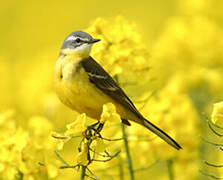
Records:
M173 146L177 150L182 149L182 147L169 135L167 135L165 132L163 132L161 129L153 125L151 122L147 121L146 119L142 120L142 125L145 126L147 129L155 133L157 136L162 138L164 141L166 141L169 145Z

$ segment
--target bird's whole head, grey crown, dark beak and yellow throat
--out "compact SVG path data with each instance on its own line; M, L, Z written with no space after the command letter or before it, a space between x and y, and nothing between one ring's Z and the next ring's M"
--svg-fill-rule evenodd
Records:
M75 31L66 37L61 51L65 54L89 56L92 44L98 41L100 41L100 39L94 39L83 31Z

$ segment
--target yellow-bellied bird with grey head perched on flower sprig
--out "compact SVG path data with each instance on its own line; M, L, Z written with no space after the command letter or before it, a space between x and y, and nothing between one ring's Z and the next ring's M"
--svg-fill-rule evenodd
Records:
M112 103L123 124L136 122L180 150L182 147L173 138L144 118L116 81L90 56L92 45L99 41L84 31L72 32L65 38L54 70L55 90L61 102L97 120L103 105Z

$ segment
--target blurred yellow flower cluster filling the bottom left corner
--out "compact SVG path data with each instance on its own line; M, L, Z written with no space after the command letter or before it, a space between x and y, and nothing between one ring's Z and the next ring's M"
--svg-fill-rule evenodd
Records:
M16 125L14 114L12 110L0 114L0 178L55 178L57 162L50 153L55 148L50 138L52 124L44 117L32 117L26 130Z

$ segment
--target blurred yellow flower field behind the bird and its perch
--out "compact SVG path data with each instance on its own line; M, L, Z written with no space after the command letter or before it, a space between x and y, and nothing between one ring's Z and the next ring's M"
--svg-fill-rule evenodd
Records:
M223 99L222 1L4 1L0 19L1 179L79 179L79 172L58 168L50 138L77 116L59 102L52 80L60 46L75 30L114 41L108 51L106 43L98 45L105 54L95 46L93 56L183 146L175 151L141 127L128 127L135 179L212 179L200 171L223 177L204 164L223 163L223 153L202 141L221 141L206 120ZM106 129L109 138L121 136L117 122ZM71 164L79 141L61 151ZM112 147L121 155L90 169L100 179L129 179L122 142Z

